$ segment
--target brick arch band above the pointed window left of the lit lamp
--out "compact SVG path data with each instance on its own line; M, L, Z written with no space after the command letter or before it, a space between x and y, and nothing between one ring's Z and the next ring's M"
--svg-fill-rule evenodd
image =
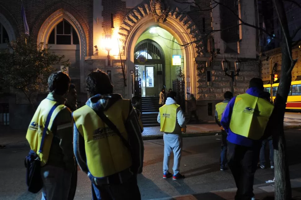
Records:
M86 38L86 44L84 44L84 54L85 56L91 56L93 55L93 34L92 30L89 27L87 21L83 18L83 16L77 11L75 8L71 7L69 4L65 2L59 2L52 7L48 8L43 12L41 16L37 19L36 23L34 24L34 27L32 28L32 35L38 39L38 35L40 33L40 30L45 23L45 21L53 15L55 12L65 12L70 13L71 16L75 18L74 21L76 21L78 24L77 26L81 27L84 34L82 37ZM80 36L79 36L80 37Z

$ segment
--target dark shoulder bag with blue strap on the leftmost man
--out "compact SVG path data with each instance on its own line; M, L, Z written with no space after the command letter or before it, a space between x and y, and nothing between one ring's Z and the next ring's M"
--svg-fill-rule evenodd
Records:
M46 132L48 129L48 125L50 122L51 115L53 111L61 105L60 103L56 103L51 110L49 111L47 115L47 119L45 122L44 130L43 130L43 135L42 135L42 140L41 140L41 145L40 149L38 151L38 154L34 152L33 150L29 151L29 155L25 157L24 164L26 167L26 185L27 185L27 190L31 193L38 193L42 187L43 187L43 180L42 180L42 175L41 175L41 159L39 154L42 152L42 148L44 145L44 140L46 136Z

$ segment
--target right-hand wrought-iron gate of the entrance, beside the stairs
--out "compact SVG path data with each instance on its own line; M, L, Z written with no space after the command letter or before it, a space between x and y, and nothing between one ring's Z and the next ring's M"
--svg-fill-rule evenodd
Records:
M177 92L176 102L185 112L185 76L182 73L181 67L178 72L176 79L173 80L173 91Z

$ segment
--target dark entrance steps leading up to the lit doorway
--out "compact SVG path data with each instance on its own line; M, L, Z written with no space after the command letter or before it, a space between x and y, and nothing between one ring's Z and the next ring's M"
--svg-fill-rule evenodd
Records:
M160 125L157 122L159 107L159 97L142 97L141 120L144 127Z

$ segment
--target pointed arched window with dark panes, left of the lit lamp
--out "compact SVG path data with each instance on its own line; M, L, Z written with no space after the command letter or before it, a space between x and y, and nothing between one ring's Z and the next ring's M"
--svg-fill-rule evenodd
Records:
M78 45L79 37L71 24L63 20L53 28L48 39L48 44Z

